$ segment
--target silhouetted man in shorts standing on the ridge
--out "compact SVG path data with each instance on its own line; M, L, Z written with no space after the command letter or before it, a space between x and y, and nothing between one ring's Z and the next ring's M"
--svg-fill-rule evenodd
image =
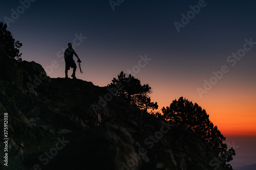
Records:
M71 68L73 68L73 74L71 75L71 77L73 77L73 79L76 79L76 63L73 59L73 55L75 55L78 59L78 62L81 62L81 60L79 59L79 57L77 56L77 54L75 53L74 49L72 48L72 44L68 43L68 48L65 50L64 53L64 59L66 62L66 69L65 69L65 78L68 78L68 70Z

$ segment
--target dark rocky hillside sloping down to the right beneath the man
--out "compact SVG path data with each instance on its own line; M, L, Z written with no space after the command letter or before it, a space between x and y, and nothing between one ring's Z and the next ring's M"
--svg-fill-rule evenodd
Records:
M107 87L45 76L0 56L0 169L224 169L196 133L131 107ZM111 80L110 80L111 81ZM105 100L103 100L105 97ZM1 133L4 134L4 133ZM4 158L5 159L5 158Z

